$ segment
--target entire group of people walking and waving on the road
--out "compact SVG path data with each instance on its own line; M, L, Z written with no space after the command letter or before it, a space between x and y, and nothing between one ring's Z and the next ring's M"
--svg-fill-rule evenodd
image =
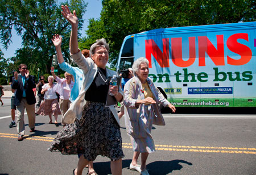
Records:
M58 34L53 35L52 43L56 48L60 69L65 71L65 78L57 77L52 67L52 76L47 78L48 82L44 76L40 76L36 84L27 65L20 64L20 73L14 72L11 82L14 95L11 98L12 121L9 127L15 126L17 110L18 141L22 141L25 132L24 109L27 110L30 132L35 132L36 115L48 115L48 123L52 123L53 115L56 126L59 126L57 119L61 115L63 128L48 150L59 151L64 155L78 155L78 164L73 174L82 174L89 165L88 174L95 175L93 161L98 155L106 156L110 159L110 169L115 175L122 174L122 158L125 157L119 122L122 115L125 115L126 131L134 151L129 168L148 175L147 157L149 153L155 152L152 124L165 125L158 104L170 107L172 113L175 113L175 106L164 98L148 77L148 60L144 57L135 60L128 76L120 84L122 87L109 87L110 77L118 75L106 68L109 60L108 43L105 39L99 39L89 50L80 51L77 41L79 19L76 12L72 13L68 6L61 6L61 9L64 18L71 24L70 54L78 67L64 61L61 53L62 38ZM34 93L36 87L37 95ZM56 93L60 96L59 102ZM112 97L109 97L110 94ZM121 102L122 110L119 114L115 105L106 106L107 98ZM139 155L141 165L138 164Z

